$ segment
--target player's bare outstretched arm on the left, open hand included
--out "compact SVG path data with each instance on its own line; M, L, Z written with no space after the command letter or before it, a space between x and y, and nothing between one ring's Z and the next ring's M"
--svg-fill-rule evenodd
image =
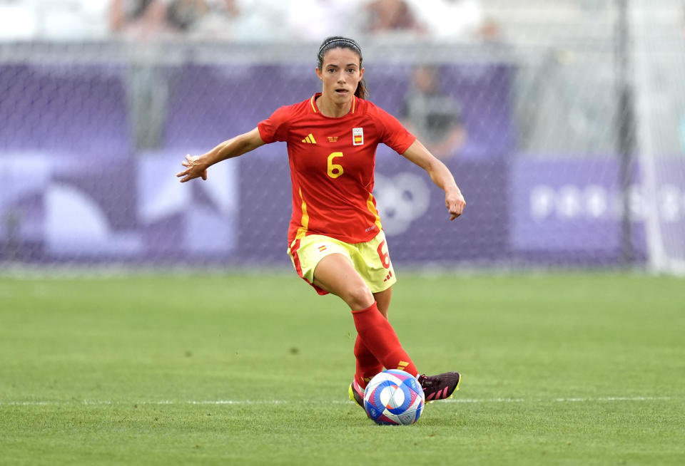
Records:
M243 133L220 143L203 155L186 155L186 159L181 162L181 165L186 167L186 170L177 173L176 176L181 178L182 183L198 177L206 180L207 169L215 163L246 154L250 150L255 150L264 144L259 130L255 128L248 133Z

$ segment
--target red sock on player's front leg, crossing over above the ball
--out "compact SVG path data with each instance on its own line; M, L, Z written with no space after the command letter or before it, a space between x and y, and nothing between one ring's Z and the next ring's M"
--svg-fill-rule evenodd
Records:
M385 368L402 369L412 376L418 375L416 366L400 345L400 338L397 338L390 322L380 314L375 301L367 309L352 311L352 317L362 343Z

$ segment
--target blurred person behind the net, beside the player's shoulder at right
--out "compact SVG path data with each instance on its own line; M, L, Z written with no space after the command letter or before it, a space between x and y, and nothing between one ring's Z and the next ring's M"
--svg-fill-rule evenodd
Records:
M459 103L440 89L435 66L416 66L405 95L402 123L442 160L452 157L466 141Z

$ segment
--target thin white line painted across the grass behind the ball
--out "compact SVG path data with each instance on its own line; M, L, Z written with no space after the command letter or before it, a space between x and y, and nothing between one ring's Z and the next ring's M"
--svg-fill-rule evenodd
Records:
M671 396L604 396L594 398L448 398L440 403L596 403L621 401L669 401ZM158 400L158 401L111 401L111 400L65 400L65 401L0 401L0 406L66 406L66 405L299 405L311 404L307 400ZM320 402L325 403L325 402ZM347 404L350 400L333 400L325 404ZM430 402L429 402L430 403Z

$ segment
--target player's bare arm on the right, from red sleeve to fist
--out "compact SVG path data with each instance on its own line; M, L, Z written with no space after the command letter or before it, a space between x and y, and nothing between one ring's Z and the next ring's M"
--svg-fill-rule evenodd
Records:
M419 140L415 140L402 156L426 170L430 179L445 191L445 205L450 211L450 220L456 219L464 212L466 200L457 186L452 172L435 155L432 155Z

